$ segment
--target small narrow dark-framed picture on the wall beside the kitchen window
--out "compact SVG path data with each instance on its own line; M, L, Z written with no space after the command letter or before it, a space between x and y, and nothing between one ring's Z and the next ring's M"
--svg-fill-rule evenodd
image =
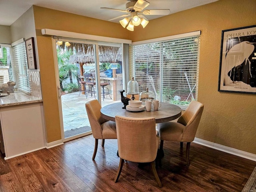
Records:
M27 58L28 58L28 68L29 69L36 69L36 53L35 53L35 43L34 37L31 37L26 42L26 51L27 51Z

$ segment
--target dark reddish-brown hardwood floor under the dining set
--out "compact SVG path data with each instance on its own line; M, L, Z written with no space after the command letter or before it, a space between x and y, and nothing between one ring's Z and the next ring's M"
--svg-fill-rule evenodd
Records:
M17 146L18 147L18 146ZM117 183L117 141L99 142L92 160L92 135L9 160L0 158L0 191L18 192L241 192L256 162L191 143L190 166L186 145L164 142L162 166L157 168L159 188L150 166L126 162Z

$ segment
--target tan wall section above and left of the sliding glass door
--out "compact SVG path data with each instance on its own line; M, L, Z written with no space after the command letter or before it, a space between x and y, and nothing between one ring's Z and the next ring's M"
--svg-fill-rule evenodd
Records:
M38 6L34 6L34 19L44 100L46 135L47 142L50 143L61 139L60 118L52 40L50 36L43 36L41 29L48 28L123 39L129 39L129 33L120 24Z

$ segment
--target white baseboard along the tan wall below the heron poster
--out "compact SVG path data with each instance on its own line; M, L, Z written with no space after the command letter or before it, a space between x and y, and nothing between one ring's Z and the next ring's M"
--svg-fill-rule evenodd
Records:
M236 155L236 156L239 156L239 157L242 157L242 158L246 158L246 159L249 159L249 160L252 160L252 161L256 161L256 154L244 152L244 151L241 151L241 150L238 150L238 149L234 149L234 148L227 147L227 146L224 146L224 145L216 144L216 143L206 141L206 140L202 140L202 139L199 139L199 138L195 138L195 140L193 142L197 143L197 144L200 144L200 145L203 145L203 146L206 146L206 147L216 149L216 150L220 150L220 151L223 151L223 152L226 152L226 153L229 153L229 154L233 154L233 155Z

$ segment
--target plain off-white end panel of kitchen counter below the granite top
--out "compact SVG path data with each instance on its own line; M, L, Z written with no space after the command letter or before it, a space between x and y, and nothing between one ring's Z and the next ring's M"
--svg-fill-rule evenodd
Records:
M42 102L0 108L5 159L46 147Z

